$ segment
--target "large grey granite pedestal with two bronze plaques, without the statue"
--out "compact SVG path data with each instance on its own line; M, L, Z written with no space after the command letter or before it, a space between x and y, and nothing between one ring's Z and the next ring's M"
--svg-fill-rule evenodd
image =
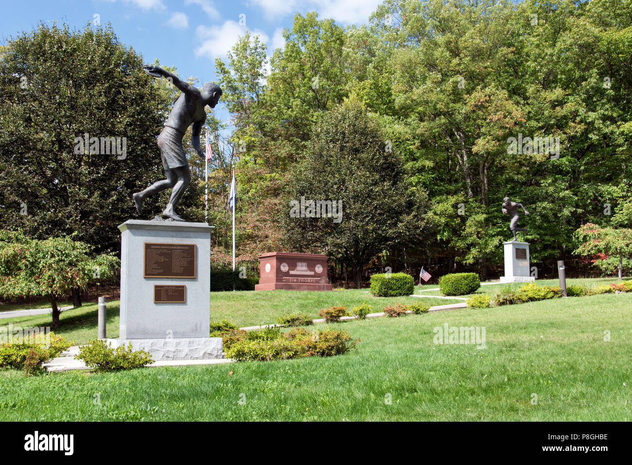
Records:
M119 339L155 361L222 358L210 338L210 232L206 223L128 220L121 230Z

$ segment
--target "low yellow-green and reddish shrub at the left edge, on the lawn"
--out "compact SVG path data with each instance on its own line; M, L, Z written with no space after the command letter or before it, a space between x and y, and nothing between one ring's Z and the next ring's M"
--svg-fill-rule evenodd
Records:
M48 347L42 347L46 338L49 338ZM0 368L23 369L27 375L40 372L43 371L43 363L58 357L72 344L54 332L48 336L44 333L27 335L16 342L0 345Z

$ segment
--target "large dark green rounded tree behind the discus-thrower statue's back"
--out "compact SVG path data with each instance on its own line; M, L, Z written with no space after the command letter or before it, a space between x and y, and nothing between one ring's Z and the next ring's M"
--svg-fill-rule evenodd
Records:
M135 215L131 194L162 176L155 136L164 97L142 64L110 27L42 23L8 41L0 59L3 225L40 239L76 232L99 251L118 249L116 225Z

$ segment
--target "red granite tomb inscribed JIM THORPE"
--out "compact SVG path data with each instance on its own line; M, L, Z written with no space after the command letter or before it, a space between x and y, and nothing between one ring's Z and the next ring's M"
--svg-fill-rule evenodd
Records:
M270 252L259 256L255 290L332 290L327 280L327 256Z

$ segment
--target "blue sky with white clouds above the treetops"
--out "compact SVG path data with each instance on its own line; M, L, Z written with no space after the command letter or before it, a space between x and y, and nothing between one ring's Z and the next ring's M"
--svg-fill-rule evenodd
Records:
M158 58L176 66L181 77L200 83L216 80L215 59L225 59L235 40L249 29L268 46L283 47L283 28L295 13L317 11L342 26L366 23L380 0L34 0L3 4L0 43L31 30L40 21L67 22L83 28L88 22L110 22L126 46L148 63ZM95 16L98 15L98 16ZM241 16L240 16L241 15ZM245 25L244 25L245 24ZM226 121L220 109L217 116Z

